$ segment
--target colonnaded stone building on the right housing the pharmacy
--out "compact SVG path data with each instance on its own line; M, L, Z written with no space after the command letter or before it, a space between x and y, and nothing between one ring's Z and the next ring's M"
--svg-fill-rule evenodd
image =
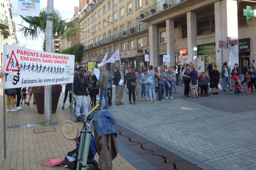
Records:
M140 12L141 22L149 27L150 64L162 65L164 54L170 55L170 65L175 61L200 65L198 72L206 71L210 62L221 69L230 54L230 68L235 63L241 67L245 59L255 63L256 18L247 20L243 9L248 8L256 9L256 1L156 0ZM229 45L219 48L226 37ZM188 50L187 56L179 55L181 48Z

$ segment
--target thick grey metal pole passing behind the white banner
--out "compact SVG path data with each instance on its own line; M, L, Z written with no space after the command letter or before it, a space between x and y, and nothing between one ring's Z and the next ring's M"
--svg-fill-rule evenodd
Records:
M46 51L52 52L52 31L53 31L53 0L47 0L47 20L46 20ZM44 88L44 125L52 122L52 86L46 85Z

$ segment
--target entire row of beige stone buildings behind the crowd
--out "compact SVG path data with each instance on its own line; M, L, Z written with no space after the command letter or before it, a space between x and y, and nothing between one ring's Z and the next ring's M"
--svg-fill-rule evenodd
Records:
M81 9L79 27L84 29L84 62L100 62L120 50L121 64L141 68L149 63L163 65L163 55L170 56L169 65L193 62L198 71L206 71L209 63L218 68L229 60L241 67L247 59L256 59L256 18L247 20L243 9L251 0L94 0ZM219 48L219 41L238 40L238 45ZM235 42L235 41L233 41ZM179 51L186 48L187 56ZM119 65L119 63L116 63Z

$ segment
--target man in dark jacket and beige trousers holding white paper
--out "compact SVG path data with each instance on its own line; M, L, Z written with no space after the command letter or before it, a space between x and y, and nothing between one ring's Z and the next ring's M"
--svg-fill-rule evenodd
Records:
M124 67L122 65L121 65L121 71L119 69L116 69L116 72L114 73L113 81L114 81L113 84L116 85L116 105L123 105L121 100L124 93L126 77L125 77Z

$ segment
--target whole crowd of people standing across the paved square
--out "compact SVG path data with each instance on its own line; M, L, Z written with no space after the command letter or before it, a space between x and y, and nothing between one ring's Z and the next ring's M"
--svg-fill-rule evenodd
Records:
M184 85L184 97L192 98L198 98L200 95L218 95L217 89L222 90L223 93L227 93L226 85L229 92L233 94L244 94L242 85L245 82L247 82L248 87L247 93L253 91L253 85L256 89L256 70L252 63L248 64L248 61L244 60L244 65L241 69L238 64L235 64L231 71L227 65L227 62L224 62L221 71L218 71L217 65L212 66L209 64L207 67L208 76L205 72L202 72L198 76L198 71L196 71L196 67L192 62L184 64L182 68L175 62L175 65L168 67L167 70L165 65L158 68L150 65L149 68L144 67L140 73L138 68L132 68L129 65L126 69L121 65L120 67L116 67L114 71L110 67L99 66L99 79L97 79L93 72L86 71L84 67L79 67L76 69L74 75L73 86L76 120L83 121L81 114L88 113L88 95L90 96L90 108L96 106L98 94L99 107L96 110L99 111L101 108L108 109L108 107L112 106L113 85L116 86L116 105L124 104L122 98L125 85L128 88L128 100L131 105L140 102L140 97L146 98L149 104L156 102L157 96L158 101L161 102L166 99L174 99L173 94L177 94L177 85L179 85L179 82L182 82ZM16 107L14 105L15 95L7 95L7 111L21 110L20 105L23 104L23 100L24 104L29 105L32 99L31 88L17 88L16 91ZM71 83L65 86L62 109L64 109L68 94L71 104L73 97ZM28 102L26 102L27 95L29 95ZM104 107L102 106L103 99L105 99Z

